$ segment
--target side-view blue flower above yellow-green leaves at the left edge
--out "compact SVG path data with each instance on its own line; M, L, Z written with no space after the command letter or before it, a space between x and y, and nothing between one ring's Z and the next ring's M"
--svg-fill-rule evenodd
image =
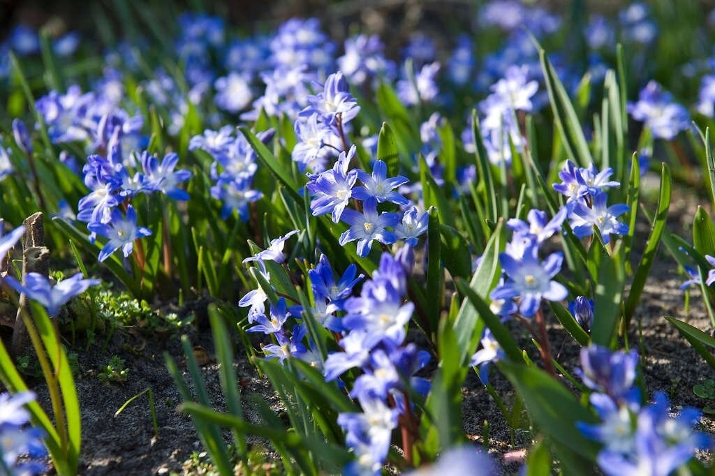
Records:
M50 317L59 314L59 309L70 299L79 296L88 287L99 284L99 279L82 279L82 273L63 279L54 286L49 279L39 273L26 274L24 284L19 283L11 276L6 276L5 281L17 292L26 294L30 299L42 304Z

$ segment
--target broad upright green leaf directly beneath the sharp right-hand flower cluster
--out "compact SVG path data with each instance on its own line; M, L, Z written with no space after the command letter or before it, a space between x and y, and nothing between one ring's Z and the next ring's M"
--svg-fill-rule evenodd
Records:
M598 240L594 240L591 247L602 247ZM618 243L616 248L622 246ZM612 256L608 253L601 254L601 263L598 265L598 280L593 296L593 329L591 340L594 344L610 347L611 340L616 331L618 319L621 317L621 297L623 284L626 281L626 272L623 267L621 253L616 250Z

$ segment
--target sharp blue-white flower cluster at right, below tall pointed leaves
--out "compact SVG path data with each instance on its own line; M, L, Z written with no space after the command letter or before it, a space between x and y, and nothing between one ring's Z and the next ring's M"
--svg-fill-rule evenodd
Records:
M608 180L612 174L611 167L598 172L593 164L577 167L570 160L558 172L562 182L553 184L553 189L567 197L566 208L573 234L577 237L591 236L593 227L598 229L606 244L611 241L611 234L628 234L628 224L618 222L618 217L628 212L628 205L607 206L608 194L604 189L620 185L619 182Z

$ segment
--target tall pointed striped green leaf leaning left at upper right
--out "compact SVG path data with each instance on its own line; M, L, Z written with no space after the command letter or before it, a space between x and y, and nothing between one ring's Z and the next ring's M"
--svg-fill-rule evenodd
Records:
M541 49L538 43L537 46L539 48L543 77L546 81L548 99L551 102L554 119L556 119L556 127L563 139L563 147L566 148L568 157L576 159L581 164L581 167L587 167L588 164L593 163L593 157L591 157L591 150L588 149L588 142L586 142L586 136L583 135L578 115L573 109L573 104L571 104L566 88L563 87L561 79L558 79L551 61L546 56L546 51Z

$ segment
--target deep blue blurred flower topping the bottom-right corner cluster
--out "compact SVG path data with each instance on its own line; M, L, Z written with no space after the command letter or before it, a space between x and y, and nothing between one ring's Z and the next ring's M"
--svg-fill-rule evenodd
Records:
M638 353L612 352L606 347L591 345L581 349L581 369L576 374L586 387L604 392L613 400L631 400L631 387L636 380Z

